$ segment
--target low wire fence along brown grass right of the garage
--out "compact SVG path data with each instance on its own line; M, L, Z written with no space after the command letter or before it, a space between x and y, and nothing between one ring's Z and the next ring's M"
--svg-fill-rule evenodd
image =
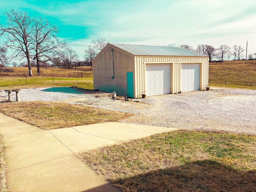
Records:
M227 86L227 87L251 87L256 89L256 79L237 79L233 78L209 78L209 85Z

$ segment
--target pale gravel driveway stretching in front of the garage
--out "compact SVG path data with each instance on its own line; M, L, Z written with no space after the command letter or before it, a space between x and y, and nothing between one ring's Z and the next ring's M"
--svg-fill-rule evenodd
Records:
M70 88L71 89L71 88ZM212 89L212 88L211 88ZM48 91L44 91L48 90ZM15 98L15 96L12 96ZM7 100L0 91L0 100ZM65 101L96 108L133 113L125 123L182 129L226 130L256 135L256 90L213 88L134 99L128 102L95 98L76 91L51 92L51 88L22 89L22 101Z

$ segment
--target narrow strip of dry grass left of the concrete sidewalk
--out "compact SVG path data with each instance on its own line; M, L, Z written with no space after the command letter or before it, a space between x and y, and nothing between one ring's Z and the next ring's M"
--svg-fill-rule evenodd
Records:
M0 192L6 192L6 178L5 178L5 172L6 172L6 162L4 161L5 154L3 151L3 144L2 144L2 137L0 136Z

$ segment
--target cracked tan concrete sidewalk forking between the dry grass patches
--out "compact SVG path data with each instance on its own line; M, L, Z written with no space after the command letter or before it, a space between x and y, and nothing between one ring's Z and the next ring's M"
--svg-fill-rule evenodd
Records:
M42 130L0 114L7 185L13 192L117 192L75 154L172 130L113 122Z

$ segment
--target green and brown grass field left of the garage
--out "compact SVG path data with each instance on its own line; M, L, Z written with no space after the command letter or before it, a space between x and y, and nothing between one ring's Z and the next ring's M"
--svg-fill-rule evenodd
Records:
M38 88L38 87L70 87L77 86L93 89L92 68L76 69L42 68L37 76L37 69L32 68L34 76L29 77L28 68L8 68L14 72L0 72L0 88Z

